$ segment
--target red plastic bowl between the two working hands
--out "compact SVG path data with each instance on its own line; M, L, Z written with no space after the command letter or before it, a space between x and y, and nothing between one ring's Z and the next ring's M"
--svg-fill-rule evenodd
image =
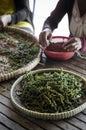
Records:
M70 58L72 58L74 56L74 52L65 52L61 50L61 46L62 43L67 42L69 38L68 37L63 37L63 36L54 36L52 38L52 41L54 43L54 45L60 49L59 51L56 51L53 49L50 49L49 45L45 50L44 53L47 57L52 58L52 59L56 59L56 60L68 60ZM52 43L51 43L52 44Z

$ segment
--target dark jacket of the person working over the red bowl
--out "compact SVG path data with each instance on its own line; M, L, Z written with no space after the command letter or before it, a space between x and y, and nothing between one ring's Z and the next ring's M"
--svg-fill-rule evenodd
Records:
M85 5L85 0L80 0L80 2L82 2L82 5L79 9L80 9L80 15L82 16L84 13L86 13L86 5ZM81 4L80 2L78 3L78 5ZM43 29L50 28L53 31L55 28L58 27L59 22L67 13L68 20L69 20L69 30L70 30L70 21L72 17L72 10L73 10L74 3L75 0L59 0L55 9L51 12L50 16L45 20ZM70 31L70 36L73 36L71 31ZM81 37L81 40L82 40L82 49L86 51L86 37Z

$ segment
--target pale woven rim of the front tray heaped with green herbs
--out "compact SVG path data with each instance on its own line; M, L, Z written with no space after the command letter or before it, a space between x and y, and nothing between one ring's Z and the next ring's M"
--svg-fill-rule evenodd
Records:
M35 74L35 73L46 72L46 71L47 72L51 72L51 71L53 72L53 71L60 71L60 69L56 69L56 68L39 69L39 70L32 71L30 73ZM78 76L79 78L81 78L85 82L85 85L86 85L86 79L84 77L81 77L80 75L73 73L71 71L67 71L67 70L64 70L64 71L68 72L70 74L74 74L75 76ZM70 110L70 111L61 112L61 113L41 113L41 112L26 109L24 107L24 105L21 103L19 96L16 94L16 91L20 90L20 88L21 88L20 82L22 81L22 79L23 79L23 76L20 76L14 82L14 84L11 88L10 96L11 96L11 102L14 105L14 107L18 111L21 111L23 114L25 114L27 116L31 116L31 117L43 119L43 120L58 120L58 119L64 119L64 118L72 117L72 116L78 114L79 112L83 111L86 108L86 102L84 101L84 103L82 103L77 108Z

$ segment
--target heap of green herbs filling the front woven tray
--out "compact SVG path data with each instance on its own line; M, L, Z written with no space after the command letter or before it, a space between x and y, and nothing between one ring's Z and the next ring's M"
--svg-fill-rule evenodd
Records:
M79 106L85 97L84 81L64 72L26 74L21 82L20 100L27 109L63 112Z

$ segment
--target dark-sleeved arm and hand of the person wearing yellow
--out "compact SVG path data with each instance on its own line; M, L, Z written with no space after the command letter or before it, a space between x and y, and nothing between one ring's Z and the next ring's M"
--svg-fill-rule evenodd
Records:
M0 27L13 25L19 21L28 21L32 23L32 13L29 7L29 0L15 0L15 12L13 14L5 14L0 16Z

